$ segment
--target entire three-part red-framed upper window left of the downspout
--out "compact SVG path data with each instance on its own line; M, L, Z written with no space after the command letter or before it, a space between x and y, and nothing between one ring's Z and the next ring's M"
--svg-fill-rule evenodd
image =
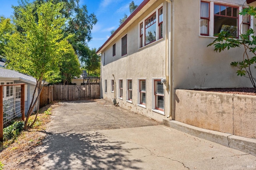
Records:
M139 48L163 38L163 5L139 23Z

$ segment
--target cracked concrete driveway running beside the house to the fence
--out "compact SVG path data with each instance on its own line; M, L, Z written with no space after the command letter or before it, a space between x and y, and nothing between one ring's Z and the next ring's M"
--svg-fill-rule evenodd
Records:
M249 170L256 157L105 100L60 102L37 150L42 170Z

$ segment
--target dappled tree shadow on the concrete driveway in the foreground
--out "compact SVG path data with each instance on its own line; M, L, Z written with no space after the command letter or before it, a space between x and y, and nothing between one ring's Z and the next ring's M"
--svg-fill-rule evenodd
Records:
M129 162L128 156L131 149L125 149L122 145L126 145L126 143L114 141L99 132L84 134L50 133L44 139L43 144L38 147L34 159L27 161L37 165L40 163L42 164L41 169L47 170L140 169L133 164L141 161L132 160ZM40 160L42 156L44 159ZM26 162L23 163L26 164Z

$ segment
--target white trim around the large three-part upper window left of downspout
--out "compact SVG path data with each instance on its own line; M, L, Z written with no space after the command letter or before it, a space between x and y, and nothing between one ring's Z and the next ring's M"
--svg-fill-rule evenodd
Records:
M157 41L159 40L162 40L164 39L164 36L162 38L159 38L159 30L158 30L158 21L159 21L159 17L158 17L158 14L159 14L159 8L163 7L163 11L164 11L164 3L162 3L161 5L159 5L156 9L154 9L150 14L148 14L145 18L143 18L143 20L141 20L139 23L138 23L138 31L139 31L139 34L138 34L138 49L142 49L144 47L147 47L148 45L152 45L154 43L156 43ZM156 41L152 42L152 43L149 43L147 45L145 45L145 20L146 18L150 17L152 14L154 14L156 12ZM164 12L163 12L164 13ZM164 34L164 23L165 23L165 15L163 15L163 34ZM142 47L140 47L140 24L143 23L143 45Z

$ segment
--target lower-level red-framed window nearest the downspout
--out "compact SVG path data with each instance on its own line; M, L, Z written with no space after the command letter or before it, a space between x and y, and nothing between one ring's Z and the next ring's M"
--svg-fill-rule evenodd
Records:
M164 111L164 85L161 80L154 80L155 109Z

